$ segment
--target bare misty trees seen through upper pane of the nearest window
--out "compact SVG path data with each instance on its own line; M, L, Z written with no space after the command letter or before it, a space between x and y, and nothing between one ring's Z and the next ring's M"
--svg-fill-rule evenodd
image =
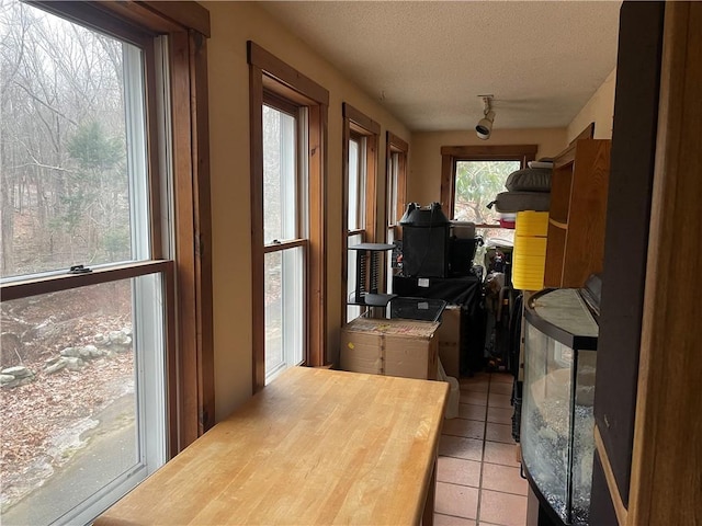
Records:
M126 260L123 44L0 4L3 277Z

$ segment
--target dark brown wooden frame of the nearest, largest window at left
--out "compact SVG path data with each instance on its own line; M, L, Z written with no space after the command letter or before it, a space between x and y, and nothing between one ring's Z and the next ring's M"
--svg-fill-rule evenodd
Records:
M167 276L167 391L168 458L172 458L214 425L214 350L212 322L212 254L210 204L210 139L207 46L210 12L196 2L33 2L59 16L138 44L151 66L146 69L152 260L115 265L89 276L64 275L58 281L29 279L2 284L3 299L38 295L114 281L148 265L162 265ZM169 37L172 178L176 216L174 258L163 258L158 219L160 188L155 176L158 129L152 38ZM151 42L149 42L151 41ZM132 268L129 271L128 268ZM176 320L178 322L176 323Z

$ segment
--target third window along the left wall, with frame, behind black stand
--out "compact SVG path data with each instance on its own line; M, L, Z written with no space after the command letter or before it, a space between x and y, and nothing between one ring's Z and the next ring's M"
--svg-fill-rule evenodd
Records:
M346 247L375 242L377 142L381 125L349 104L343 104ZM344 254L343 320L358 318L364 307L353 305L356 288L356 251ZM371 276L366 276L370 279ZM367 285L367 284L366 284Z

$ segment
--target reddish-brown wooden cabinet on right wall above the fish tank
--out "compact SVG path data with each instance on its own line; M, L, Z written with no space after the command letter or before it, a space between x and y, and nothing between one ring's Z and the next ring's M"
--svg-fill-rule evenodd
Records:
M545 287L579 288L602 272L610 148L579 139L554 159Z

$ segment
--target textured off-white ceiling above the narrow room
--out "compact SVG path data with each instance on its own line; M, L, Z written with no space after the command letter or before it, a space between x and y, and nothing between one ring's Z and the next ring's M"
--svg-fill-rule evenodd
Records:
M616 65L620 1L261 5L411 130L564 127Z

